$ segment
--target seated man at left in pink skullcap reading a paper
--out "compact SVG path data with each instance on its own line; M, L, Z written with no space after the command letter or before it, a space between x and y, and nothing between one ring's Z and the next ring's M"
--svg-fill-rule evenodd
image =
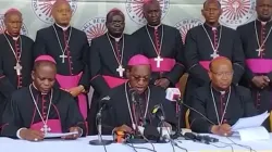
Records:
M16 90L3 113L1 135L29 141L40 141L48 132L71 132L64 139L85 136L84 118L76 101L66 91L53 87L55 61L49 55L35 60L33 84Z

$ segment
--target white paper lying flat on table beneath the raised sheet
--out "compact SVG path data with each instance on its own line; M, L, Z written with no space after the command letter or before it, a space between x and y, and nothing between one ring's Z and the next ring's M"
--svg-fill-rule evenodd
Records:
M269 140L270 135L268 130L260 127L244 128L237 130L242 141L256 141L256 140Z

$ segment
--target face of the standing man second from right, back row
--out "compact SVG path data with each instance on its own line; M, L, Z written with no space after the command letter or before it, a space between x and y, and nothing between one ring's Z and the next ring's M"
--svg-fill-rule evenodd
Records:
M202 15L208 23L218 23L222 10L218 2L207 2L205 8L201 10Z

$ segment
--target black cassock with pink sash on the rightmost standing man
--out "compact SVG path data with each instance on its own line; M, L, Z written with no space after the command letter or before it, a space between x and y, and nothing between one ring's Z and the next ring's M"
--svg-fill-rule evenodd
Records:
M255 106L257 107L259 113L272 110L271 85L264 87L263 89L260 89L257 88L251 81L255 76L261 75L268 76L272 80L272 35L270 34L272 22L268 22L267 24L262 25L258 20L237 28L237 31L240 35L246 58L245 80L247 81L244 85L251 89L255 100ZM259 48L263 50L260 53L259 51L257 51ZM269 119L264 125L267 128L270 128Z

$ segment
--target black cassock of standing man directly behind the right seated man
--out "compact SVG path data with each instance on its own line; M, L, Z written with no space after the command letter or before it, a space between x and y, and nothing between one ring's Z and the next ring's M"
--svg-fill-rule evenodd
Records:
M213 51L217 50L217 53ZM244 52L238 34L228 27L218 26L212 30L207 24L188 30L185 40L185 61L189 77L185 90L185 103L189 104L190 96L196 88L210 81L209 63L217 54L233 62L233 83L237 84L244 74Z

